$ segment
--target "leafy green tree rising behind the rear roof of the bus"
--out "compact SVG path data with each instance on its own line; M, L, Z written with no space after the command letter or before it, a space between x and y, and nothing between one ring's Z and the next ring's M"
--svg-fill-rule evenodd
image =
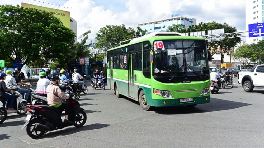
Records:
M133 39L135 34L134 28L126 28L124 24L120 26L106 25L106 27L100 28L99 32L96 33L96 43L95 48L99 52L104 51L104 47L107 49L117 47L119 45L125 44L127 42L122 42L125 40ZM105 44L106 40L106 44ZM121 44L120 44L121 42Z

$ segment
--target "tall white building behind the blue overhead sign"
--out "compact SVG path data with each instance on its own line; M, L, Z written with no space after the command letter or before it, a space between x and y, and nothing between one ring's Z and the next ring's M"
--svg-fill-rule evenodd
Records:
M249 24L257 24L261 22L264 23L264 0L246 0L246 31L248 31ZM264 30L261 32L264 32ZM257 43L263 39L264 36L246 37L246 43Z

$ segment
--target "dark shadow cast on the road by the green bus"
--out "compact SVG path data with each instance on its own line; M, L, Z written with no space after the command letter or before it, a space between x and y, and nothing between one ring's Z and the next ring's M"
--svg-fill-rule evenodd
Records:
M204 113L220 110L230 110L235 108L241 108L252 104L241 103L235 101L228 101L222 99L211 98L210 103L207 104L198 104L194 108L187 106L175 106L175 107L161 107L155 108L155 112L158 114L192 114L192 113Z

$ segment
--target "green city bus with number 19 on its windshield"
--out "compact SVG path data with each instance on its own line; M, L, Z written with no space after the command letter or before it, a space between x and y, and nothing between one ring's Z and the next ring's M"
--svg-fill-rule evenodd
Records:
M144 110L209 103L205 39L155 32L109 49L107 86L117 97L139 101Z

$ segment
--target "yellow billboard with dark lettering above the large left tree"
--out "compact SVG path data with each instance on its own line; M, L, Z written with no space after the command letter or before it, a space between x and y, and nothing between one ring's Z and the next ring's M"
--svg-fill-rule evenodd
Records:
M26 4L26 3L21 3L21 7L35 8L35 9L38 9L40 12L47 11L49 13L53 13L55 17L60 19L60 21L64 24L65 27L70 28L70 12L69 11L36 6L36 5Z

